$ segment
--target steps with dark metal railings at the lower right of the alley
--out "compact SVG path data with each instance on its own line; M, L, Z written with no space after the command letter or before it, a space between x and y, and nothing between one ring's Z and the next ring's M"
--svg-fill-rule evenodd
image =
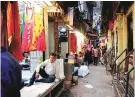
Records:
M116 64L116 61L124 53L126 53L126 57L120 63ZM131 73L134 71L133 53L135 53L135 49L128 54L127 49L125 49L111 64L113 66L111 69L113 76L112 82L114 84L117 97L134 97L134 78L131 76ZM123 62L125 62L124 70L122 68L124 66Z

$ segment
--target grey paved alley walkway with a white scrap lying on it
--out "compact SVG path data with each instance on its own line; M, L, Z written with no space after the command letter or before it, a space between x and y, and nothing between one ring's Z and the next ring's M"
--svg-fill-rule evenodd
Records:
M91 65L89 69L89 75L79 78L79 84L63 92L60 97L116 97L110 85L112 77L106 74L105 67Z

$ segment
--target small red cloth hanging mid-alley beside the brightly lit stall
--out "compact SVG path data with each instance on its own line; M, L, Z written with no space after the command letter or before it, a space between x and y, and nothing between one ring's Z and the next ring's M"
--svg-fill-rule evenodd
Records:
M77 38L75 33L70 33L70 52L76 52L77 50Z

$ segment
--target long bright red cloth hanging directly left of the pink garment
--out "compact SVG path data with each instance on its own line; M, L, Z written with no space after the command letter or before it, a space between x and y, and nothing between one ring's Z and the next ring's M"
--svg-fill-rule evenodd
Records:
M12 55L17 60L22 60L23 55L21 52L21 35L20 35L20 16L19 16L19 7L18 2L14 1L12 6L12 19L13 19L13 40L11 42L11 45L9 47L9 52L12 53Z

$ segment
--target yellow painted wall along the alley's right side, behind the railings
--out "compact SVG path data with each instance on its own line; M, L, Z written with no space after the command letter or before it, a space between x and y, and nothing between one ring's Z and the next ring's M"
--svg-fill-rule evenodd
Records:
M116 54L116 28L118 31L118 53L117 55L119 55L124 49L127 48L127 42L128 42L128 30L127 30L127 17L128 15L133 12L133 47L135 48L135 3L128 9L126 15L122 14L122 13L116 13L117 14L117 18L114 22L114 45L115 45L115 54ZM108 30L108 43L107 43L107 47L108 49L110 47L112 47L112 35L111 35L111 31ZM125 58L125 54L123 54L123 56L121 56L117 63L121 62L122 59ZM135 60L135 56L134 56L134 60ZM123 62L123 70L124 70L124 62ZM132 65L129 65L129 70L132 68ZM133 78L133 72L131 73L131 77Z

